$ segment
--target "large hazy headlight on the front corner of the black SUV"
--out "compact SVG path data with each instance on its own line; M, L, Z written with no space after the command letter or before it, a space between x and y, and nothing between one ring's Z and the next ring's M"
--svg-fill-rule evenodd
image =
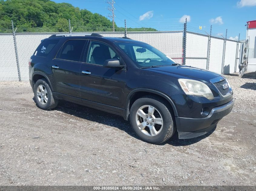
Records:
M213 100L213 94L210 88L201 81L178 79L182 90L187 95L206 97L208 100Z

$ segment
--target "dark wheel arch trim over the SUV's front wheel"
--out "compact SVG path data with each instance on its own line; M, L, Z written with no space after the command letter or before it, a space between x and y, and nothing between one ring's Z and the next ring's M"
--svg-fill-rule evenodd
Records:
M178 116L178 112L177 112L177 109L176 109L173 101L166 94L164 94L162 92L159 92L159 91L156 91L156 90L145 89L145 88L138 88L138 89L132 90L128 94L128 97L127 97L127 100L126 100L126 105L125 105L125 108L127 109L126 119L128 119L128 116L130 114L130 108L131 108L132 103L135 100L137 100L138 98L140 98L142 96L145 96L145 95L148 95L148 94L158 95L159 97L162 97L165 100L167 100L168 103L170 104L172 110L173 110L174 115Z

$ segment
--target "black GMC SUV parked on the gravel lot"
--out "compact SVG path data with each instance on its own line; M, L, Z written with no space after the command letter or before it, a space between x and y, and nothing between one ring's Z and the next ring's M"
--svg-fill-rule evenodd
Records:
M204 135L234 105L224 76L179 65L146 43L96 33L42 40L29 79L38 107L53 109L62 99L114 113L154 144L176 129L182 139Z

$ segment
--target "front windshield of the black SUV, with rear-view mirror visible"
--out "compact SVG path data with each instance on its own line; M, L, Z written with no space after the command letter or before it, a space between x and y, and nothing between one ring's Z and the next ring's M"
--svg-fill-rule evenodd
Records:
M168 56L144 43L116 43L138 68L168 66L175 64Z

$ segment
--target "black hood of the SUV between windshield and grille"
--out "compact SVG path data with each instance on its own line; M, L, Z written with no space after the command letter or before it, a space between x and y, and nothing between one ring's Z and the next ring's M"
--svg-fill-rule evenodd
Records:
M177 78L188 78L192 80L202 81L204 83L211 83L211 79L223 77L224 76L217 74L215 72L210 72L208 70L194 68L186 65L179 66L162 66L157 68L147 68L150 71L161 72L166 75L176 76Z

